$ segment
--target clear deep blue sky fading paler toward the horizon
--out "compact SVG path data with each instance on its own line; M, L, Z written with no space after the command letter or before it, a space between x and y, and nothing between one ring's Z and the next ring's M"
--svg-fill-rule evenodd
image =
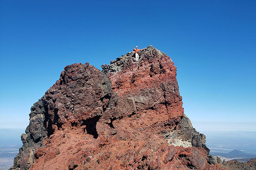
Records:
M136 45L175 62L197 130L256 131L255 0L0 0L0 127L25 129L66 65Z

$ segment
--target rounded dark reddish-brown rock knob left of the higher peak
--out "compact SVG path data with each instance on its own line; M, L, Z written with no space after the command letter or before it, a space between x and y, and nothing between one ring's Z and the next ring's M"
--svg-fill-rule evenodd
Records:
M111 92L110 80L93 65L65 67L61 78L42 97L47 108L48 136L63 124L83 126L97 122Z

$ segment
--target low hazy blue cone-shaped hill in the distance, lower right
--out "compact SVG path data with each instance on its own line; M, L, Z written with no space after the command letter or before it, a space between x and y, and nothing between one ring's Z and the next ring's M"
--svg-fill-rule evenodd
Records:
M229 153L211 152L212 156L223 156L226 158L254 158L255 154L244 153L241 150L232 150Z

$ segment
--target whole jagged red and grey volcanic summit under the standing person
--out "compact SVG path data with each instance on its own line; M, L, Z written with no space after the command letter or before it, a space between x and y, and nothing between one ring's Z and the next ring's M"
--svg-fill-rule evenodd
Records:
M224 170L184 114L172 59L151 45L139 56L67 65L32 106L11 170Z

